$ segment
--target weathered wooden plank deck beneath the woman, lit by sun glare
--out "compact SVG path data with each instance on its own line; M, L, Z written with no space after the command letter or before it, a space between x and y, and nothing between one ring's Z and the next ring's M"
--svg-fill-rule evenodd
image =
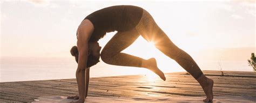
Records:
M224 76L220 71L203 72L214 80L214 96L247 95L256 98L255 72L224 71ZM90 78L89 97L205 96L197 81L186 72L165 75L165 82L144 75ZM56 95L78 95L76 79L0 83L0 102L32 102L38 97Z

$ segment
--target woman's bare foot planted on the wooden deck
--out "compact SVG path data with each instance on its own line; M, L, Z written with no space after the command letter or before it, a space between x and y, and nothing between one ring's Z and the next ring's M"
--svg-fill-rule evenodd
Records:
M212 93L212 88L213 88L213 80L210 78L205 77L204 75L199 77L198 79L199 84L203 88L205 94L206 94L206 99L204 99L204 102L212 102L213 99L213 93Z

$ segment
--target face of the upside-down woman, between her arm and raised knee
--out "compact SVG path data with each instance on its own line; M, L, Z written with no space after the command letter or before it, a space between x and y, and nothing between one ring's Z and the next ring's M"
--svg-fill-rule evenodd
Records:
M100 49L102 49L102 47L99 46L99 43L97 41L95 42L90 42L89 43L89 47L91 49L91 54L97 58L100 57Z

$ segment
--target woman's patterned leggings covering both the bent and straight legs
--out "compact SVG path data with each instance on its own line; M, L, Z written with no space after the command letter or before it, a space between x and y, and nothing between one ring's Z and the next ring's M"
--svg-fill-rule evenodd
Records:
M136 27L129 31L117 32L107 42L100 54L102 61L112 65L141 67L143 58L120 53L129 47L139 35L142 35L148 42L153 41L157 49L179 63L195 79L203 74L193 58L174 45L146 10L143 10L142 18Z

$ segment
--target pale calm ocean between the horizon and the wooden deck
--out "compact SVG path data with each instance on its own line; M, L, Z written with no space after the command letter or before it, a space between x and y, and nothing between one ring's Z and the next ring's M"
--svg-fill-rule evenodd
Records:
M158 61L158 60L157 60ZM175 61L158 61L163 72L185 71ZM253 71L247 61L196 61L201 70ZM1 57L0 82L76 78L73 57ZM120 67L100 61L90 69L90 77L154 75L144 68Z

